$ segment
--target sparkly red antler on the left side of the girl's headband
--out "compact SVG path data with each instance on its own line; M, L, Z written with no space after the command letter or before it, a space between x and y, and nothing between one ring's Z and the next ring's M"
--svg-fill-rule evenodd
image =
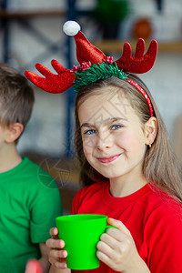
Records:
M38 76L30 71L25 71L25 76L35 84L35 86L49 93L62 93L73 86L73 81L76 79L76 76L71 73L70 70L61 66L56 60L52 60L51 65L56 70L57 75L53 74L45 66L36 64L36 69L45 77Z

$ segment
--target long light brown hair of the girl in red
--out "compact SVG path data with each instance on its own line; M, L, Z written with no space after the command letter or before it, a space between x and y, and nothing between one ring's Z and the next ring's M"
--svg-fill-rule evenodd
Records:
M164 189L168 194L176 197L182 203L182 174L181 166L177 161L177 157L170 143L165 126L157 106L151 96L147 86L134 75L129 75L129 78L145 89L147 95L153 105L154 116L157 118L157 137L151 148L147 148L146 157L143 163L143 172L147 181L152 181L157 187ZM76 152L81 164L80 180L81 183L91 185L99 180L108 180L106 177L100 175L93 167L89 165L83 152L82 138L80 132L80 125L78 119L78 108L86 100L88 96L98 95L103 92L103 87L111 86L116 89L124 91L131 106L136 110L136 114L140 117L144 125L150 118L149 107L144 96L136 90L134 86L128 84L125 80L117 77L106 78L92 83L79 90L76 96L76 135L75 144ZM100 91L99 88L102 90Z

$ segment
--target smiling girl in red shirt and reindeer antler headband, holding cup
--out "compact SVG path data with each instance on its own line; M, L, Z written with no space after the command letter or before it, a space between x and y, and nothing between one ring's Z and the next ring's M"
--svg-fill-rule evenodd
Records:
M87 52L93 53L93 45L88 45L80 32L75 39L78 60L78 46L85 57ZM141 47L136 45L137 72L143 69L138 59ZM94 50L98 54L98 49ZM148 67L149 52L142 56ZM124 53L122 63L129 58L126 47ZM97 244L100 267L80 272L182 272L181 170L166 126L147 86L138 77L117 69L118 60L113 63L107 57L96 63L93 54L87 56L91 63L86 59L71 71L78 90L76 150L85 186L76 193L71 214L104 214L117 229L108 228ZM131 65L134 58L130 59ZM63 66L55 63L54 67L63 74ZM35 85L56 92L47 81L53 75L44 66L36 68L46 79L30 72L25 75ZM64 88L61 86L58 92ZM69 253L63 250L65 242L58 239L56 227L50 234L52 238L46 242L50 272L71 272L66 267Z

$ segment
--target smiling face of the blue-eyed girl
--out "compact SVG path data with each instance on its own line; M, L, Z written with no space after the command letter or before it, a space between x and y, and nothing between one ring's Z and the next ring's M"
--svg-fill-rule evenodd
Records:
M146 153L144 126L120 90L106 87L89 96L78 108L83 149L89 164L111 180L143 177Z

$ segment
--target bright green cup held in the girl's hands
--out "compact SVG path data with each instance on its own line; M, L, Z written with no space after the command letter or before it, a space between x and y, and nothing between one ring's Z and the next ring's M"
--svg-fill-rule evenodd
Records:
M58 237L65 241L67 268L86 270L99 268L96 245L106 232L105 215L79 214L56 217Z

